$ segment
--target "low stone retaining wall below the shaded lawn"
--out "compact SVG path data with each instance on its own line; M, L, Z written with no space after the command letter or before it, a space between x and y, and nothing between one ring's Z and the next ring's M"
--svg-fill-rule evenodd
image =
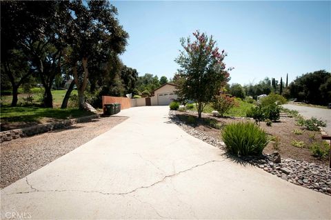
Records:
M46 123L43 125L32 126L28 128L6 130L4 132L0 132L0 143L2 143L3 141L11 141L12 139L18 139L20 137L27 137L27 136L32 136L34 134L41 134L44 132L48 132L50 130L70 127L75 123L87 122L87 121L91 121L92 119L97 119L99 117L100 117L99 114L92 114L77 119L66 119L63 121Z

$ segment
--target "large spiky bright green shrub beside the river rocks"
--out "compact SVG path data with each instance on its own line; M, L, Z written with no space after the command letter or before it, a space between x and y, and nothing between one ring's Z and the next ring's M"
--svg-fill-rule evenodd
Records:
M234 155L262 154L269 142L265 131L250 121L228 124L221 136L226 150Z

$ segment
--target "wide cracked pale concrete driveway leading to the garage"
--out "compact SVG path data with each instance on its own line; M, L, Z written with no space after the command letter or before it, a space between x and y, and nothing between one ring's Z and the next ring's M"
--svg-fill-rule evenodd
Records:
M167 106L121 115L130 118L1 190L1 219L331 217L331 197L227 159L174 125Z

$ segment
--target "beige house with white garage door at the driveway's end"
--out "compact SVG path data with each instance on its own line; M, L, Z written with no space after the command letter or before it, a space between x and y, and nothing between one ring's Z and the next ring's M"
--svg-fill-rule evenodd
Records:
M177 94L174 94L177 85L174 83L164 83L162 86L152 91L154 97L157 99L158 106L168 106L170 102L177 99Z

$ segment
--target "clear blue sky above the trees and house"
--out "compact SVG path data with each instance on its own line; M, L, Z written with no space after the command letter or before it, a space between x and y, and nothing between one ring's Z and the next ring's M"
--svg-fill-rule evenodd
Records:
M230 83L265 77L289 81L331 69L331 1L111 1L130 34L121 59L126 66L159 77L173 76L181 37L194 30L212 34Z

